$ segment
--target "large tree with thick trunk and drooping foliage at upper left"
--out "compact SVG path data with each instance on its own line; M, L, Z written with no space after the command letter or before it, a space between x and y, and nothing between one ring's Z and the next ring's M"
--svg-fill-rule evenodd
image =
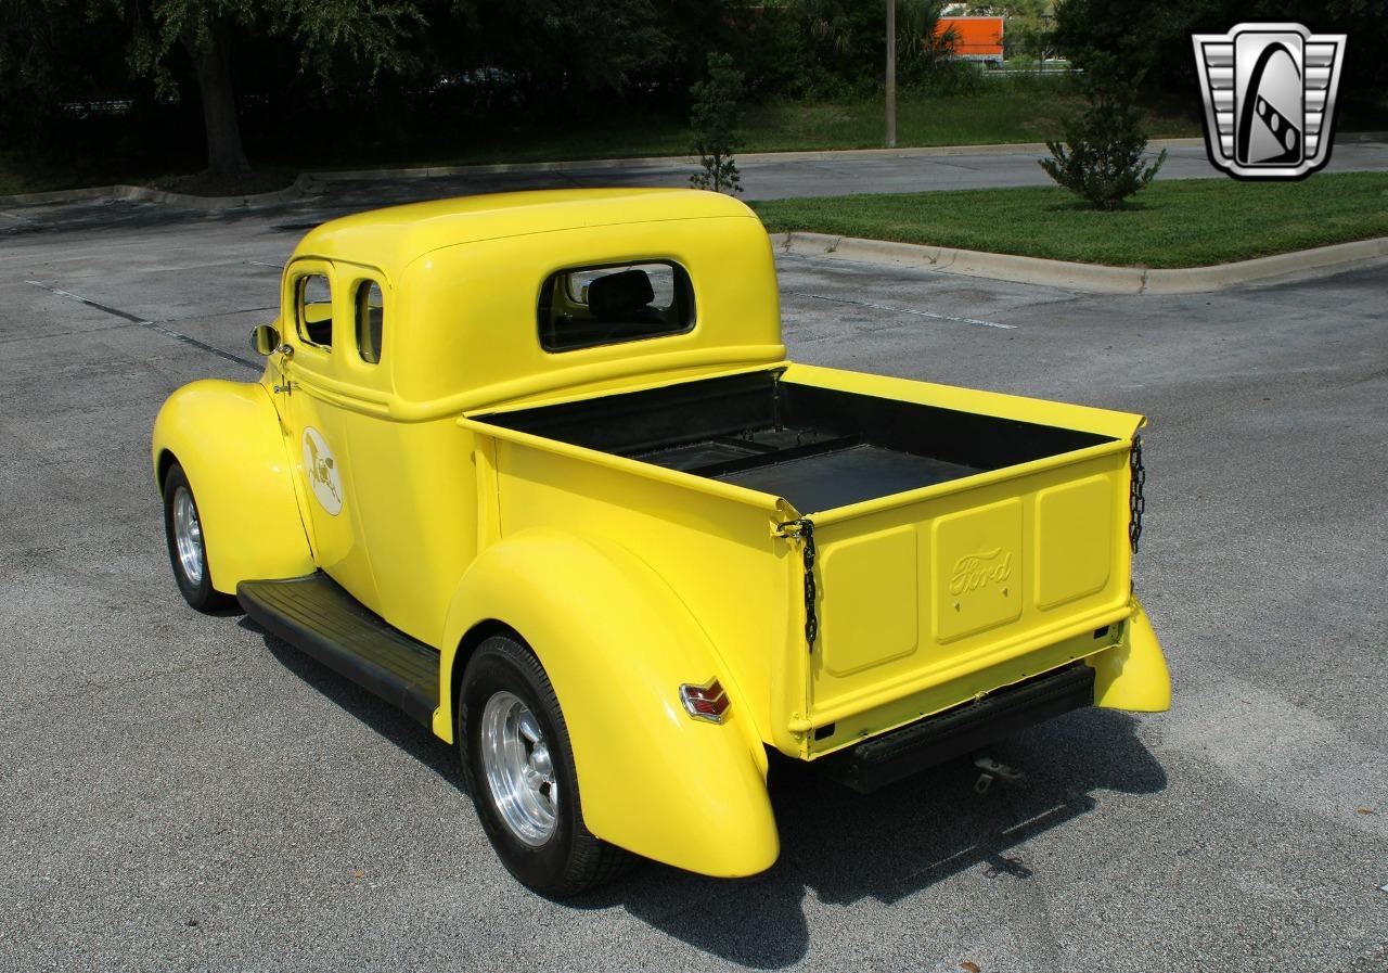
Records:
M207 132L207 169L214 175L250 169L242 146L232 75L239 32L287 35L300 47L300 68L330 83L332 60L346 54L371 76L408 64L401 44L422 25L411 0L90 0L93 10L115 4L130 29L130 64L165 92L174 90L169 62L186 53L197 78Z

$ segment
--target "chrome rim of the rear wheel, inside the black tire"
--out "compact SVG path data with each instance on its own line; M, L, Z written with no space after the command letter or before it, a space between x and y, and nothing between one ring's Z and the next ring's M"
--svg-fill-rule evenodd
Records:
M554 834L559 784L540 723L520 697L496 693L487 700L480 750L497 813L519 841L539 848Z

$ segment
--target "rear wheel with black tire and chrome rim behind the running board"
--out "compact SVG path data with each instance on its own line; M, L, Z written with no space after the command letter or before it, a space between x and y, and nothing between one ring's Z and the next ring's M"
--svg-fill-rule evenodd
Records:
M462 676L464 779L497 858L541 895L566 898L629 868L632 855L583 823L569 731L550 679L515 638L487 638Z

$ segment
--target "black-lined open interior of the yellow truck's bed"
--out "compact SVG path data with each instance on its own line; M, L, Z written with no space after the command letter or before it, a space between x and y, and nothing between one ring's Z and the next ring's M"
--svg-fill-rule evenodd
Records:
M1112 441L775 369L477 419L784 497L805 514Z

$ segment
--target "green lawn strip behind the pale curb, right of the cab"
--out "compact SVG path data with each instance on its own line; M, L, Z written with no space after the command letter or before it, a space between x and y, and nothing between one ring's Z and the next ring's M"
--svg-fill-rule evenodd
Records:
M1203 266L1388 236L1388 172L1302 182L1173 179L1117 212L1059 187L892 193L754 204L773 233L924 243L1115 266Z

